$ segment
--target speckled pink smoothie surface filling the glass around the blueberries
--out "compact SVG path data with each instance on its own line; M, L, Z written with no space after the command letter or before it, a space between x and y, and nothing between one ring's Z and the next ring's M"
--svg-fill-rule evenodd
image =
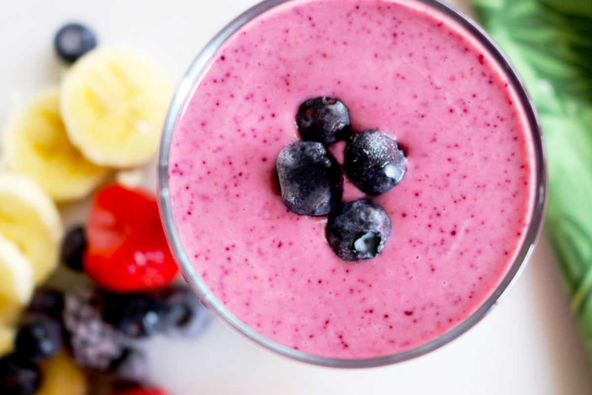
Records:
M196 82L172 138L174 219L214 295L259 333L323 357L394 354L484 303L522 246L535 159L503 70L448 17L416 1L295 0L244 25ZM374 198L392 233L346 262L326 217L287 210L275 159L299 139L305 99L348 106L407 155ZM332 147L339 160L343 143ZM346 182L345 200L363 197Z

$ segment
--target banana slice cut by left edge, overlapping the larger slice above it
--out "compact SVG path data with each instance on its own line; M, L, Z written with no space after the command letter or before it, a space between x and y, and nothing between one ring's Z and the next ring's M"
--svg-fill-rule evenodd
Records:
M0 323L10 323L18 316L31 298L33 287L33 265L15 243L0 235ZM2 339L5 333L0 330L0 343Z

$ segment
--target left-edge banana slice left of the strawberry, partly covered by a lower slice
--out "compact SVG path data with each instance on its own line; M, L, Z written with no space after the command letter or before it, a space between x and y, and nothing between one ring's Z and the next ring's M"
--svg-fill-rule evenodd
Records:
M25 175L0 172L0 233L27 256L36 284L56 268L62 220L49 195Z

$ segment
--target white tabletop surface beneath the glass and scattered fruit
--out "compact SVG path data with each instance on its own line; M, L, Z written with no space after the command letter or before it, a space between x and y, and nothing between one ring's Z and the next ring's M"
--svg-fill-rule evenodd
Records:
M52 37L88 23L101 43L131 43L159 57L177 81L202 46L255 0L0 0L0 122L41 86L59 81ZM313 367L259 349L214 323L197 341L157 339L153 380L197 394L592 393L568 300L548 243L520 281L474 329L413 361L369 370Z

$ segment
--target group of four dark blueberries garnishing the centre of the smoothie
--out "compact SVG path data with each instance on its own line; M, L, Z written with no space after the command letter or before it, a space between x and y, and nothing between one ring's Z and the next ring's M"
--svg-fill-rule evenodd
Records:
M366 195L382 194L403 178L403 151L382 131L352 133L348 108L339 99L305 101L296 124L303 140L288 144L276 160L282 201L296 214L329 214L327 241L340 258L374 258L390 236L391 221L372 200L342 203L343 172ZM342 166L326 148L340 140L346 140Z

